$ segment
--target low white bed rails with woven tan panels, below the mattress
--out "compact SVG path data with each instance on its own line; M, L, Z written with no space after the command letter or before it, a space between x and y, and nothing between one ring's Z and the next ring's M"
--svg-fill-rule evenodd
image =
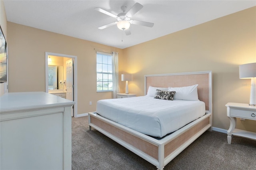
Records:
M95 112L88 113L88 124L90 129L95 128L155 165L158 170L163 170L166 164L211 127L210 115L206 114L160 140L105 119Z

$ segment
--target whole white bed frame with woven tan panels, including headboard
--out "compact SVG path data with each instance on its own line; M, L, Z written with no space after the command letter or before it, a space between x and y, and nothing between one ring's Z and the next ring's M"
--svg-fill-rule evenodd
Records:
M198 84L198 98L206 104L206 115L158 140L101 117L88 113L89 127L128 148L155 165L158 170L175 158L206 130L212 130L212 71L145 75L148 87L184 87Z

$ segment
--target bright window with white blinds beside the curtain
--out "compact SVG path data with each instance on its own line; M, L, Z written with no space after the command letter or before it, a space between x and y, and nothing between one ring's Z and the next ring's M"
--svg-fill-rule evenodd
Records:
M113 91L112 55L97 52L97 91Z

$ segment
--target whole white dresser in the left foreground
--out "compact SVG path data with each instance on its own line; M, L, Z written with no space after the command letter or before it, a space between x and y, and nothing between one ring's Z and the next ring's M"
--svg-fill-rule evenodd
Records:
M0 97L0 169L71 169L71 108L44 92Z

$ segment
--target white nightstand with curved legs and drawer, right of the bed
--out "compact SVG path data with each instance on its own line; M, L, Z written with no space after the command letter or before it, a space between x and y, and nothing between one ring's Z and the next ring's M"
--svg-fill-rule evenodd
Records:
M227 103L227 116L230 119L228 129L228 144L231 144L232 134L256 140L256 133L246 130L236 129L236 118L250 119L256 121L256 106L250 106L245 103Z

